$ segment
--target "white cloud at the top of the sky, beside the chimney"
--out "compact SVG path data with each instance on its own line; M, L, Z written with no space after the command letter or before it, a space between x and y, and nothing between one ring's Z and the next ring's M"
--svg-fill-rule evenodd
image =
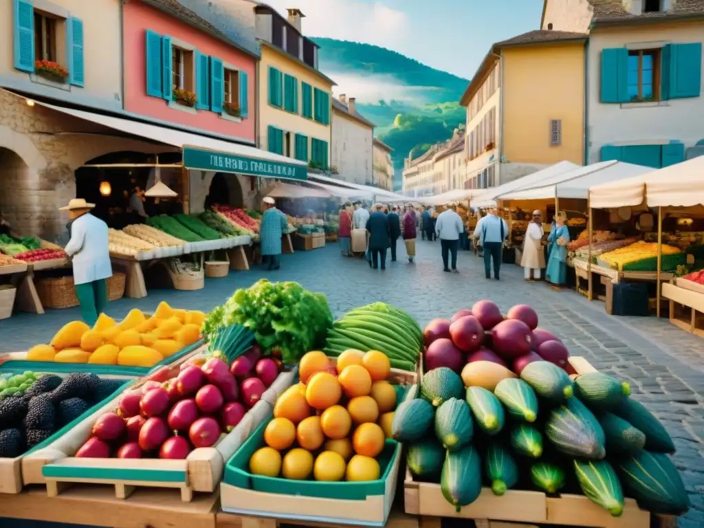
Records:
M303 11L303 34L375 44L398 49L408 35L408 15L381 1L268 0L265 4L286 16L286 9Z

